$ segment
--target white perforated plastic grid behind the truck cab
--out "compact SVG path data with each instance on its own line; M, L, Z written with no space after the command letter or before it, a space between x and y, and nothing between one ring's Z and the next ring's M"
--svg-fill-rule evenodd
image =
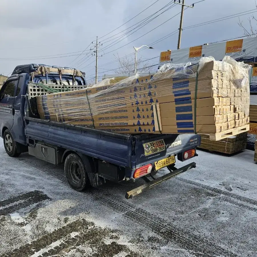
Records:
M69 89L69 91L73 91L73 90L81 90L84 89L85 86L79 86L79 85L55 85L55 84L44 84L44 86L53 88L53 89L65 89L66 87ZM28 95L29 95L29 99L31 99L32 97L36 97L39 95L47 95L47 94L51 94L49 92L47 92L45 89L43 89L42 87L40 87L37 84L34 83L29 83L28 84Z

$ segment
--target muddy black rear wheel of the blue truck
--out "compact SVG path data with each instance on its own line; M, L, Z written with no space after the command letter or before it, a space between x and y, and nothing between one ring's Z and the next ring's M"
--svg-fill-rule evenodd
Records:
M81 158L74 153L69 154L64 163L65 176L70 186L77 190L83 191L88 186L87 171Z

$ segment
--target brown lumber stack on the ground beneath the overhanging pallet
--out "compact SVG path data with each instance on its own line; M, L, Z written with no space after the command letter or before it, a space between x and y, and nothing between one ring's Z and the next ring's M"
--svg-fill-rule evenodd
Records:
M222 152L226 154L233 154L246 149L247 132L238 134L236 136L229 136L222 140L210 140L209 135L201 135L201 145L199 148Z

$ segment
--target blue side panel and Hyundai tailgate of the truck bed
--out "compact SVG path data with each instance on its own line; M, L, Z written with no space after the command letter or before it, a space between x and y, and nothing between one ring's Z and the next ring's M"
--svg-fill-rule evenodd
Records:
M131 169L200 145L196 134L119 134L31 117L25 117L25 122L27 138ZM165 150L145 155L143 144L157 140L164 140Z

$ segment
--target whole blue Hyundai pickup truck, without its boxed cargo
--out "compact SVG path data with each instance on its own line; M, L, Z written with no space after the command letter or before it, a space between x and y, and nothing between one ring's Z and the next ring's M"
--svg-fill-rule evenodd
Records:
M126 198L196 167L191 162L176 168L175 162L197 156L197 134L119 134L40 119L33 96L42 95L43 89L31 92L29 85L34 82L69 90L85 88L85 78L75 71L41 64L14 69L0 90L1 137L9 156L28 152L52 164L64 163L67 181L78 191L101 186L107 180L143 178L145 183L127 192ZM156 177L163 167L169 172Z

